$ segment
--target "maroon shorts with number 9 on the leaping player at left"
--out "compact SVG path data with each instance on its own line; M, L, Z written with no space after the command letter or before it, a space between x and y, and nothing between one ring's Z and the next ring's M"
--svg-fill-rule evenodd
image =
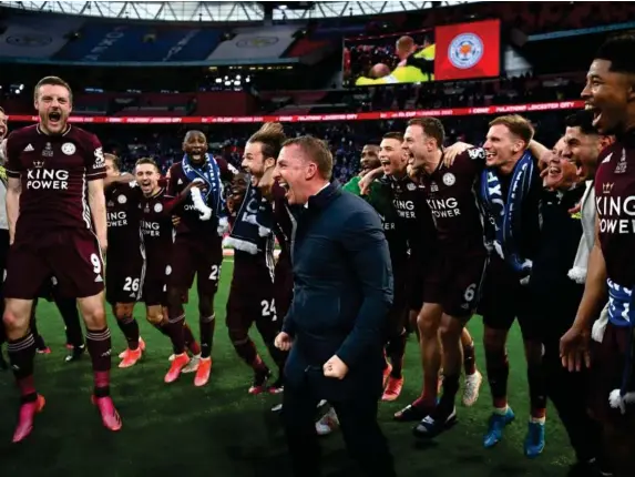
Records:
M33 300L55 277L62 298L84 298L104 290L103 260L90 230L49 231L9 250L4 296Z

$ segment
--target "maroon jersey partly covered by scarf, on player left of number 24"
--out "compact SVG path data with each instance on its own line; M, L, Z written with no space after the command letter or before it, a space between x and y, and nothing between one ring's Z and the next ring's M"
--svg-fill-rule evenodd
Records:
M221 181L228 182L234 179L237 172L235 168L231 166L223 158L214 156L218 169L221 171ZM190 180L183 171L183 164L177 162L170 168L167 173L167 194L175 197L190 184ZM221 191L223 194L223 191ZM209 204L208 204L209 205ZM192 196L188 195L175 210L174 213L181 217L181 223L176 227L177 234L194 233L196 235L205 235L208 237L218 237L217 225L218 221L212 217L208 221L202 221L201 214L194 209ZM218 240L221 240L218 237Z

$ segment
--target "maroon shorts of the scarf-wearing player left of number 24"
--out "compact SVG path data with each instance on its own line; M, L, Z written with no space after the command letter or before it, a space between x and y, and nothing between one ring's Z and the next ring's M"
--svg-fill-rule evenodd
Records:
M170 273L166 284L182 291L190 290L197 276L198 293L213 296L218 290L223 246L221 237L208 237L193 234L176 235L172 246Z

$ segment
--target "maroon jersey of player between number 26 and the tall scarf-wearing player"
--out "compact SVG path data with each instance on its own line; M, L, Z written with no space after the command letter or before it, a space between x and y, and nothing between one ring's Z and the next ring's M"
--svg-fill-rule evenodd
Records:
M163 273L170 264L174 227L172 225L171 207L174 197L162 189L157 194L142 196L139 202L141 211L141 235L145 247L147 273Z

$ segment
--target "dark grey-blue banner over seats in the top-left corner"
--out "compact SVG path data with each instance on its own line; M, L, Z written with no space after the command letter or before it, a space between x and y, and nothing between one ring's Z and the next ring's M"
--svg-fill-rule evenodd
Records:
M0 55L50 58L66 44L66 33L81 28L83 22L75 17L10 16L0 21Z

